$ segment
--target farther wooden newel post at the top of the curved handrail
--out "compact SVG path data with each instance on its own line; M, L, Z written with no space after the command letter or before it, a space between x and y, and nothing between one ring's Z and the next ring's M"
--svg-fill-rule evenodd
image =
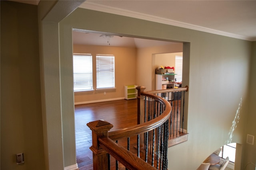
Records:
M137 96L137 101L138 101L138 106L137 106L137 125L139 125L140 123L143 123L143 117L144 117L144 96L141 96L140 93L144 92L144 90L146 89L143 86L138 86L136 87L136 89L138 90L138 96Z

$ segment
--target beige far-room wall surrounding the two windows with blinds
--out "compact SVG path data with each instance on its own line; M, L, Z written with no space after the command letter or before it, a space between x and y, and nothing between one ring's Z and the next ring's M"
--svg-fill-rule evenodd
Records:
M160 55L161 59L158 61L163 62L171 62L175 64L175 55L174 54L181 54L182 53L165 53L164 55L162 52L166 51L182 51L182 43L178 44L171 44L171 45L164 45L164 46L156 46L156 47L147 47L147 48L131 48L131 47L112 47L112 46L92 46L92 45L73 45L73 52L74 53L90 53L93 56L93 65L95 71L95 56L96 54L113 54L115 56L115 74L116 74L116 89L114 90L94 90L89 92L75 92L74 93L74 103L75 104L85 104L91 102L102 102L107 100L120 100L124 99L124 86L130 84L136 84L138 86L143 86L141 84L136 83L136 78L138 76L136 69L137 69L137 51L147 51L145 55L148 55L148 51L151 52L152 56L152 64L155 63L155 53L156 55ZM170 59L173 58L173 59ZM158 62L156 61L156 62ZM140 78L146 80L147 77L151 74L155 74L154 68L152 68L153 72L150 71L149 74L145 74L144 78ZM158 64L159 65L159 64ZM155 78L154 78L155 79ZM154 81L154 79L152 81ZM141 81L141 80L140 80ZM93 87L96 89L96 74L93 75ZM154 87L153 87L154 88ZM148 89L148 88L147 88ZM106 95L104 95L106 92Z

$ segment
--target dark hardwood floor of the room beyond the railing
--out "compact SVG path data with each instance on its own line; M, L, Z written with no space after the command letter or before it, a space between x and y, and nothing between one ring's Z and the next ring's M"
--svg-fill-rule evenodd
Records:
M76 162L80 170L92 170L92 132L86 123L104 119L120 129L137 123L137 100L116 100L75 106Z

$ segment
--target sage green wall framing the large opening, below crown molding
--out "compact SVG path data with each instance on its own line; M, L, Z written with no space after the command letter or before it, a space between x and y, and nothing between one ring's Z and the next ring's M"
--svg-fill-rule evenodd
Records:
M229 139L228 133L241 98L243 107L239 112L239 123L232 134L232 142L244 143L247 105L244 101L247 99L252 42L78 8L60 22L60 60L68 61L72 57L70 46L72 28L189 42L186 43L185 49L190 45L190 50L184 53L185 72L189 74L184 76L186 84L183 85L188 85L190 89L188 92L190 135L187 142L169 148L169 169L196 169L204 158L224 145ZM136 80L139 86L151 88L152 74L149 74L151 58L151 55L137 58ZM69 65L61 64L61 67L69 68ZM64 74L61 73L61 77L66 77L69 71L62 72ZM147 79L149 83L144 84L142 79ZM65 86L62 86L68 96L72 96L71 85L65 82ZM62 95L62 98L65 96ZM70 103L68 100L73 102L72 98L65 98L67 104ZM67 116L65 118L67 120L73 119L71 115L64 116ZM68 122L63 123L68 124ZM244 166L243 162L242 166Z

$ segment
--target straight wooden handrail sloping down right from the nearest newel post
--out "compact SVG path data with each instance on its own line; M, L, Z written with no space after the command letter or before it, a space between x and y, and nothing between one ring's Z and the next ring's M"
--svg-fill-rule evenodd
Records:
M99 145L129 170L156 170L129 150L118 146L108 137L99 138Z

